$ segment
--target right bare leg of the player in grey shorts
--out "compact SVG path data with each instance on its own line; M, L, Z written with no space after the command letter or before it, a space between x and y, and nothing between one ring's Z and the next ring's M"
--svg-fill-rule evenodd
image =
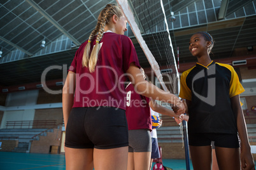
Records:
M134 169L148 170L150 168L151 152L134 152Z

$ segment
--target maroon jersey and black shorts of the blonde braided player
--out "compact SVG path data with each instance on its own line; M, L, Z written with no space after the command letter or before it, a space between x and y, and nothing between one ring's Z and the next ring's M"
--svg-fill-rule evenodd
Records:
M90 73L89 68L82 67L87 42L76 51L69 67L69 71L76 73L76 91L65 145L99 149L128 146L124 74L132 62L140 68L136 50L129 37L106 32L99 42L95 72Z

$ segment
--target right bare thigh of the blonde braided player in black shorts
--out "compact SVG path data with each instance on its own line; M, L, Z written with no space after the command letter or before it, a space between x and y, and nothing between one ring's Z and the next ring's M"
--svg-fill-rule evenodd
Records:
M95 170L126 170L128 147L96 149L94 148Z

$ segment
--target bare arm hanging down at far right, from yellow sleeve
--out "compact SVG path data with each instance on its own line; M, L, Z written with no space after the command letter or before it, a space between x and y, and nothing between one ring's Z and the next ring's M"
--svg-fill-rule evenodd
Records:
M240 105L239 95L231 98L232 110L237 115L238 134L241 140L241 164L243 169L253 169L254 162L251 154L250 143L248 141L248 134L245 124L245 117Z

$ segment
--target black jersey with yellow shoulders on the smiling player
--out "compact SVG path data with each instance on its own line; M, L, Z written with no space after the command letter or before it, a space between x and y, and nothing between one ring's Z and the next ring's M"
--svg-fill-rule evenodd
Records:
M231 65L211 62L206 67L197 63L183 72L180 97L191 101L188 108L188 133L238 132L231 98L245 89Z

